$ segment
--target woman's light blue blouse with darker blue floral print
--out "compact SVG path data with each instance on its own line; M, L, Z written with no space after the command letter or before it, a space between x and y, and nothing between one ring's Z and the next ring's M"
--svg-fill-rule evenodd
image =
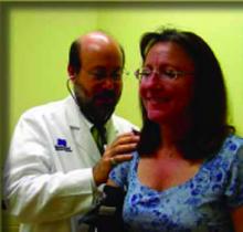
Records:
M139 182L139 156L109 178L128 190L123 217L133 232L232 232L230 210L243 205L243 139L230 136L187 182L158 191Z

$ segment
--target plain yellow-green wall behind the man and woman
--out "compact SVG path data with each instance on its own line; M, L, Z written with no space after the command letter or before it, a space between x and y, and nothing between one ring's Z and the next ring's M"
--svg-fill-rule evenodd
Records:
M243 135L243 7L210 3L68 6L11 10L10 131L24 109L67 94L67 52L78 34L94 29L110 32L125 46L126 67L133 73L140 62L141 33L172 24L199 33L214 50L229 87L230 120ZM137 82L133 74L125 78L117 113L140 124Z

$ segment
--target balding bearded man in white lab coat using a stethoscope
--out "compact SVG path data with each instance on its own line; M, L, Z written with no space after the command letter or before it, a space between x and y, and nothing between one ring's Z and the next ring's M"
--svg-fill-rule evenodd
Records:
M86 231L77 222L97 200L98 187L114 164L131 158L138 141L131 133L135 126L113 115L124 62L123 49L112 36L103 32L81 36L70 51L71 96L21 116L4 188L21 232ZM108 145L104 154L101 141Z

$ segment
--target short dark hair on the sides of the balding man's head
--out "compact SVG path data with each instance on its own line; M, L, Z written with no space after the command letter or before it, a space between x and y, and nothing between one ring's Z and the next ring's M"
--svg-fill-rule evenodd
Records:
M123 56L123 67L125 65L125 52L124 48L119 45L122 56ZM68 54L68 65L73 67L74 73L77 74L82 67L82 61L80 60L80 53L82 52L82 44L78 40L72 42L70 46L70 54Z

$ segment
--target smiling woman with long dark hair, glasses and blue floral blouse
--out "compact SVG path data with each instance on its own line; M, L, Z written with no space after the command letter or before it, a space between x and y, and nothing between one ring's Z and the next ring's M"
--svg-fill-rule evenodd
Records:
M173 29L146 33L140 53L140 141L108 181L127 190L128 231L242 232L243 139L226 124L216 57Z

